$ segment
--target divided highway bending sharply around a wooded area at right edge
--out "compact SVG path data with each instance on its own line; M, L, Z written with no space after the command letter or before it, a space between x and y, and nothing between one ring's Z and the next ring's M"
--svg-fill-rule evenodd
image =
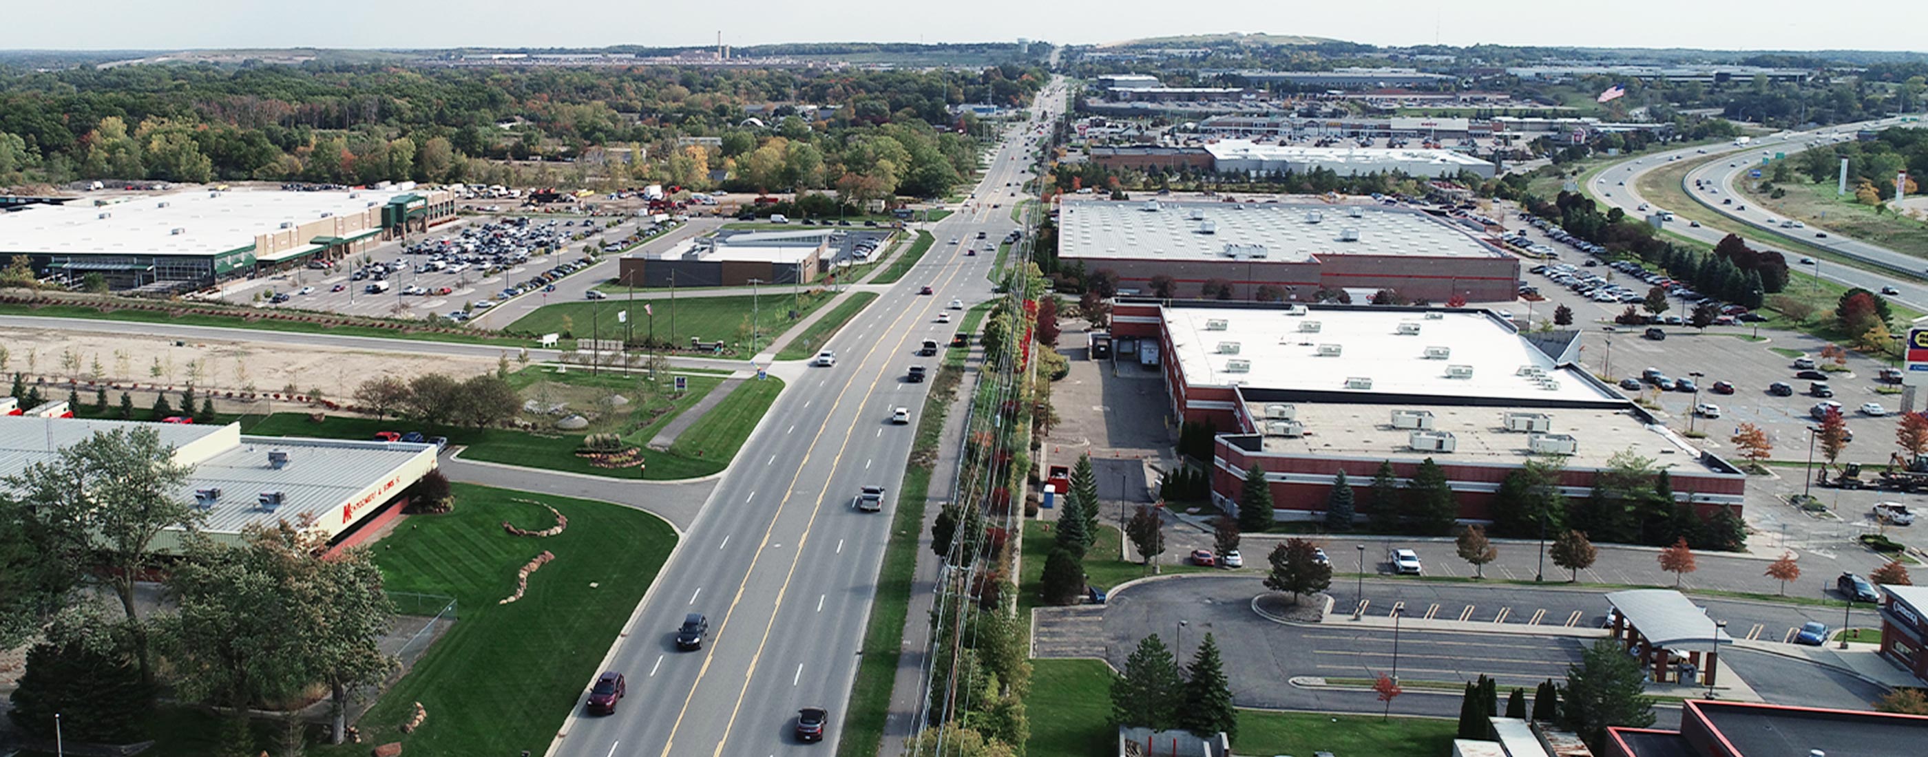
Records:
M1722 198L1735 196L1733 195L1735 175L1747 171L1749 168L1760 166L1762 150L1770 154L1772 152L1793 154L1807 150L1810 143L1814 143L1816 139L1822 141L1822 144L1828 144L1832 139L1837 139L1837 135L1853 135L1859 129L1880 129L1897 123L1903 121L1899 117L1884 117L1874 121L1832 125L1814 131L1789 131L1774 137L1762 137L1758 141L1751 141L1749 144L1739 144L1739 146L1737 144L1689 146L1689 148L1645 154L1600 171L1593 179L1593 185L1587 187L1587 191L1606 206L1618 206L1623 212L1627 212L1627 216L1645 218L1650 210L1643 212L1639 210L1639 206L1648 204L1652 208L1658 208L1658 204L1641 196L1641 191L1637 189L1637 179L1641 175L1658 168L1666 168L1674 158L1693 160L1693 158L1704 158L1708 154L1729 156L1731 160L1712 160L1706 166L1687 171L1687 175L1683 177L1683 191L1689 196L1693 196L1699 204L1712 208L1714 212L1720 212L1722 216L1737 223L1749 223L1756 229L1772 229L1772 225L1768 223L1770 216L1758 208L1749 208L1747 212L1735 212L1733 206L1720 204ZM1695 191L1693 179L1714 183L1720 189L1720 195L1706 193L1704 189ZM1735 202L1741 200L1735 198ZM1685 208L1662 208L1662 210L1679 212ZM1774 222L1778 222L1778 218L1774 218ZM1689 225L1687 220L1668 222L1666 227L1668 231L1699 239L1708 245L1714 245L1727 235L1726 231L1720 229L1693 227ZM1816 229L1776 229L1776 231L1791 231L1795 237L1801 237L1808 245L1828 248L1847 258L1864 260L1872 266L1895 268L1911 274L1922 272L1924 266L1928 266L1928 260L1913 258L1862 241L1845 239L1832 231L1826 239L1812 237ZM1778 235L1756 233L1753 235L1753 245L1766 248L1776 248L1776 247L1785 248L1785 245L1780 245ZM1928 304L1928 285L1922 285L1920 277L1916 275L1878 274L1849 266L1830 266L1826 262L1820 262L1816 266L1805 266L1799 264L1799 260L1801 260L1799 254L1789 254L1791 268L1807 270L1808 274L1820 275L1828 281L1835 281L1847 287L1864 287L1872 291L1880 291L1882 287L1895 287L1897 291L1901 291L1899 297L1893 297L1895 300L1911 308L1922 308L1924 304Z

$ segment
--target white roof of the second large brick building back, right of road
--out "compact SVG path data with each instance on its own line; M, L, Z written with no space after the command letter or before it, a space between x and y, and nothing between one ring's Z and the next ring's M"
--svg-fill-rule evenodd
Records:
M1352 218L1352 212L1359 218ZM1313 222L1313 218L1319 222ZM1211 233L1201 231L1211 225ZM1064 200L1064 258L1309 262L1340 254L1506 258L1423 212L1367 204ZM1355 241L1346 241L1346 231ZM1263 248L1263 258L1253 256Z

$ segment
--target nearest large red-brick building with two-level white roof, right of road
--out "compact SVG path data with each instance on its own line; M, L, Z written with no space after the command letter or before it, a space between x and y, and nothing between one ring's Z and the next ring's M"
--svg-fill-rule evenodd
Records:
M1463 308L1126 297L1112 333L1136 341L1118 345L1120 360L1159 366L1174 418L1217 430L1222 507L1236 509L1257 466L1278 518L1323 518L1338 472L1363 485L1390 462L1409 480L1433 458L1459 518L1486 520L1500 482L1527 460L1562 460L1562 491L1587 497L1608 458L1633 451L1702 516L1739 516L1747 474L1581 370L1577 331L1519 333Z

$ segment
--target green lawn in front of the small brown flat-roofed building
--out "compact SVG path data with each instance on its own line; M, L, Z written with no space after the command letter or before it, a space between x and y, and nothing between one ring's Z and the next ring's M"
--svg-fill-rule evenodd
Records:
M677 297L675 300L634 302L634 306L611 297L607 300L546 304L509 324L509 329L569 333L575 339L623 339L634 333L636 339L642 339L652 333L652 318L644 312L648 304L656 312L656 339L673 345L684 345L690 337L725 341L736 347L736 354L725 356L748 360L754 354L750 349L752 331L748 329L752 316L760 329L754 333L758 347L767 349L773 339L829 302L831 297L833 293L821 289L796 293L790 287L767 287L760 297ZM796 318L790 318L792 310ZM629 312L629 324L617 320L619 312Z

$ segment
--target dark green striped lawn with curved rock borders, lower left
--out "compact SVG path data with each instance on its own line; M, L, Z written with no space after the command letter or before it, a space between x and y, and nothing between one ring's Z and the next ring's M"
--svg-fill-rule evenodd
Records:
M503 522L553 524L511 497L555 507L569 528L505 534ZM451 595L461 620L361 718L362 740L424 755L542 753L675 543L667 522L636 509L455 483L455 512L409 516L374 545L386 589ZM497 605L542 551L555 559L528 576L528 593ZM416 701L428 720L401 734ZM368 744L310 753L364 755Z

